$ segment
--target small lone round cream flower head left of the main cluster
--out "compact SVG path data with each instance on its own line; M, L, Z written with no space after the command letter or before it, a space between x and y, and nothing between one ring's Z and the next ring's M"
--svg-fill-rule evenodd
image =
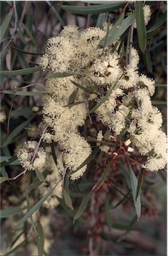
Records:
M19 150L17 158L21 163L21 166L27 170L41 170L42 166L45 164L46 152L43 148L38 148L37 153L35 150L38 146L38 143L33 141L28 141L23 144L23 148ZM34 158L35 154L35 158ZM34 158L34 160L33 160Z

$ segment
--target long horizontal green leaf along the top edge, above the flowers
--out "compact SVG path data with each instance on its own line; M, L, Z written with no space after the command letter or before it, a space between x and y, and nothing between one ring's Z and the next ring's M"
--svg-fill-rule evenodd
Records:
M61 8L65 11L70 11L76 14L98 14L115 11L116 9L122 8L126 3L111 3L106 5L90 5L90 6L76 6L76 5L61 5Z

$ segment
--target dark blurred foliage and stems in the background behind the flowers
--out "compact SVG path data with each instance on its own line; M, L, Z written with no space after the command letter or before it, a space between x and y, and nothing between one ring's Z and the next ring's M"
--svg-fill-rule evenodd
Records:
M115 4L116 1L112 1ZM127 1L123 1L122 4ZM99 4L106 5L106 1ZM121 3L121 2L120 2ZM167 11L167 1L145 1L151 6L152 15L147 31L163 17ZM108 3L110 5L110 3ZM116 4L118 5L118 3ZM70 6L70 7L68 7ZM75 7L77 11L75 11ZM1 124L1 175L14 177L22 172L15 158L23 142L38 140L37 126L41 122L42 97L41 92L46 80L46 71L38 67L41 55L44 53L49 37L58 35L64 25L78 25L80 29L96 26L104 19L114 23L122 13L122 6L100 15L99 11L86 11L82 7L99 7L96 1L1 1L1 112L7 116ZM103 7L102 7L103 8ZM129 7L127 7L129 8ZM67 9L69 11L67 11ZM90 13L91 12L91 13ZM79 13L79 14L78 14ZM166 15L167 16L167 15ZM4 22L5 21L5 22ZM165 21L165 18L163 19ZM123 51L126 53L127 31L122 35ZM133 47L140 55L139 72L155 79L157 84L152 98L163 114L163 130L167 130L167 24L161 23L155 31L148 34L147 50L141 53L136 31L133 35ZM36 72L25 68L37 67ZM19 70L13 72L12 70ZM35 70L34 70L35 71ZM162 84L162 85L159 85ZM156 102L157 101L157 102ZM89 129L89 127L88 127ZM8 162L9 161L9 162ZM90 162L88 172L78 181L70 181L69 193L74 211L71 211L60 200L60 205L52 210L41 207L36 217L37 229L41 234L41 242L36 242L35 231L30 231L33 223L25 221L13 233L15 225L27 212L27 205L35 205L39 201L36 190L25 189L35 179L35 174L26 174L15 181L1 184L1 209L7 211L1 214L1 248L7 255L37 255L37 244L41 250L43 236L44 254L48 255L165 255L166 254L166 175L165 170L157 174L145 174L143 192L150 207L145 209L139 221L136 221L135 210L124 197L123 204L112 207L122 199L121 193L127 193L125 188L127 177L122 175L120 184L103 186L98 192L92 193L90 204L86 207L80 221L73 224L73 216L84 196L93 186L94 173L98 172L98 163ZM101 168L101 165L99 166ZM120 163L120 172L124 163ZM116 180L118 174L116 171ZM68 184L68 181L66 181ZM125 185L123 185L125 184ZM109 184L108 184L109 185ZM114 185L114 184L113 184ZM66 185L68 188L68 185ZM27 202L26 203L26 198ZM144 198L143 198L144 199ZM143 200L145 203L145 199ZM90 210L96 207L96 219L90 226ZM11 209L11 210L10 210ZM3 215L4 213L4 215ZM7 214L9 217L7 217ZM43 231L41 228L43 227ZM22 241L19 239L25 237ZM94 236L92 252L91 239ZM91 238L90 238L91 237ZM25 241L24 241L25 240ZM10 252L11 251L11 252ZM39 255L40 252L39 252Z

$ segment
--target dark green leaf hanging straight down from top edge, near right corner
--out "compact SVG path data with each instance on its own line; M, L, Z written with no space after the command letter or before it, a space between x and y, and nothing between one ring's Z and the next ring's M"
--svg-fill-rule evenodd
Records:
M135 19L137 23L139 48L141 49L141 52L144 53L147 44L147 33L144 19L143 1L137 1L136 3Z

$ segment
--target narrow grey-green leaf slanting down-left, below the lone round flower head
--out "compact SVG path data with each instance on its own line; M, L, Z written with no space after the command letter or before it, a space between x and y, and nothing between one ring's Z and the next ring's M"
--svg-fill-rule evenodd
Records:
M36 203L30 211L28 211L28 213L21 219L21 221L19 221L17 223L17 225L15 226L15 229L17 227L19 227L21 224L23 224L25 221L27 221L27 219L33 215L33 213L35 213L35 211L37 211L37 209L39 209L39 207L41 207L42 203L44 203L44 201L47 199L47 197L50 195L50 193L52 193L52 191L54 190L54 188L56 187L56 185L51 188L41 199L40 201L38 201L38 203Z

